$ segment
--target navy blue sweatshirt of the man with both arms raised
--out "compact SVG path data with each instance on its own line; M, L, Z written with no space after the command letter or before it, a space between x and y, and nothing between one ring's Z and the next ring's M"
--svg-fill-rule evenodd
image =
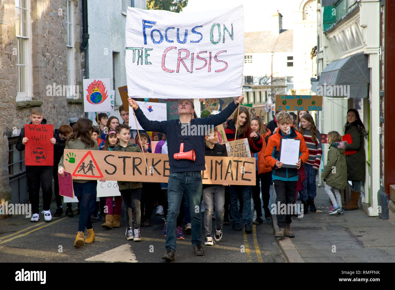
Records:
M231 102L228 107L222 110L219 114L209 116L207 118L192 119L192 125L220 125L233 113L238 105ZM144 116L140 107L135 110L137 120L141 127L146 131L158 131L166 134L167 149L169 154L170 172L187 172L187 171L201 171L205 170L205 142L203 136L182 136L180 120L168 121L150 121ZM193 127L192 127L193 128ZM192 130L191 128L191 130ZM180 144L184 138L184 152L192 149L195 150L196 160L175 160L173 155L180 152Z

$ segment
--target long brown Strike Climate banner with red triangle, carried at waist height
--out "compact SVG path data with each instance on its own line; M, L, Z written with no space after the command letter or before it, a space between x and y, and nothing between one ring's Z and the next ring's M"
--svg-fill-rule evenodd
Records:
M65 149L64 156L73 156L64 161L65 170L72 172L73 179L143 182L167 182L169 158L167 154L99 150ZM255 158L206 156L206 170L202 172L204 184L222 184L225 180L233 185L255 185Z

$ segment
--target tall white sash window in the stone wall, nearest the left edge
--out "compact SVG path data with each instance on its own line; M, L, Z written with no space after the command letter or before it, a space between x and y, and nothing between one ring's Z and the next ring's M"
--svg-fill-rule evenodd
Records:
M17 2L17 1L15 1ZM31 101L33 98L33 94L32 94L32 79L33 79L33 73L32 73L32 48L31 48L31 43L30 43L30 1L26 0L26 8L20 7L16 5L17 3L15 3L15 21L17 21L17 9L23 9L26 10L26 36L20 36L19 35L19 31L17 31L17 29L15 29L15 35L17 37L17 97L16 97L16 101ZM21 17L22 13L20 13L20 17ZM15 26L16 26L16 22L15 22ZM15 27L16 28L16 27ZM19 64L19 53L20 53L20 49L19 49L19 39L24 39L24 51L25 51L25 87L26 90L24 92L19 92L20 90L20 84L19 82L21 81L19 78L19 67L21 66Z

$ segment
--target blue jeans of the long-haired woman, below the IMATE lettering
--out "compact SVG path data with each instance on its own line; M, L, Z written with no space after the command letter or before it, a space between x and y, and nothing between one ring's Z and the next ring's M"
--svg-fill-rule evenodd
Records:
M240 214L237 206L237 196L239 191L243 196L243 225L251 225L251 197L250 197L250 185L231 185L229 187L230 192L230 213L232 215L232 222L239 223Z

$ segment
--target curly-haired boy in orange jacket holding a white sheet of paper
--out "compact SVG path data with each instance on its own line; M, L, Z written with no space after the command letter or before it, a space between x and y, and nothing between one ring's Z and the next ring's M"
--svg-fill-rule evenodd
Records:
M280 202L280 205L285 204L288 209L295 203L296 181L299 178L298 169L307 161L308 149L303 136L292 126L292 116L288 112L279 112L276 115L276 120L279 130L269 137L267 141L265 161L272 167L272 179L277 196L276 202ZM284 163L280 162L281 138L300 140L299 161L296 163L297 168L282 167ZM295 237L290 228L292 222L291 213L280 214L278 211L279 209L277 210L278 231L275 237Z

